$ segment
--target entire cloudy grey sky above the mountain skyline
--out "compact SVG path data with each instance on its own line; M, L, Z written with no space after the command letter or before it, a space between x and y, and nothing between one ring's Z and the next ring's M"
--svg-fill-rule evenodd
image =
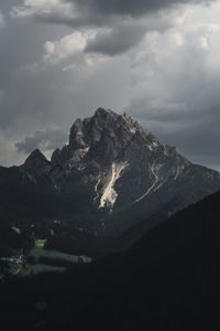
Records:
M0 164L127 111L220 170L220 1L1 0Z

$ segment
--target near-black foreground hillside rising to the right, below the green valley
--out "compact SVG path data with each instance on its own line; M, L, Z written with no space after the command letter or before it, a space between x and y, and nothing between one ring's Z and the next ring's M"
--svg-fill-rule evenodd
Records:
M219 330L219 214L216 193L158 224L128 252L64 275L0 284L1 324L38 331Z

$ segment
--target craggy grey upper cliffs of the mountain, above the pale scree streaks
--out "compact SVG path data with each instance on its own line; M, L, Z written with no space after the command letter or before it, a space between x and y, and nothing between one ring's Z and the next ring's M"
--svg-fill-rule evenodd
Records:
M81 169L96 162L100 167L111 167L113 162L134 163L143 154L153 160L184 158L175 148L161 143L148 130L127 116L110 109L98 108L94 116L77 119L70 128L69 143L55 150L52 163L70 169Z

